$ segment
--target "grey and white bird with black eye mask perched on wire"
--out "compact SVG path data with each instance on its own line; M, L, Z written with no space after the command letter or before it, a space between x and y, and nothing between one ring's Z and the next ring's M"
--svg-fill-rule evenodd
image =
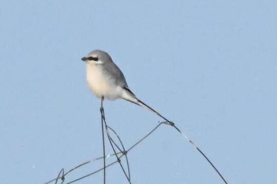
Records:
M83 57L82 61L86 62L88 86L97 98L101 100L124 99L144 107L168 123L172 123L135 96L130 90L124 74L108 53L102 50L94 50Z

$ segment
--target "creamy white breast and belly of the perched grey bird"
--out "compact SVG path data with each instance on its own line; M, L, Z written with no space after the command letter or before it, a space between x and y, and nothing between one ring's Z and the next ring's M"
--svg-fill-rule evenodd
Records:
M121 98L122 88L107 79L101 65L87 63L87 82L90 90L100 99L101 97L108 100Z

